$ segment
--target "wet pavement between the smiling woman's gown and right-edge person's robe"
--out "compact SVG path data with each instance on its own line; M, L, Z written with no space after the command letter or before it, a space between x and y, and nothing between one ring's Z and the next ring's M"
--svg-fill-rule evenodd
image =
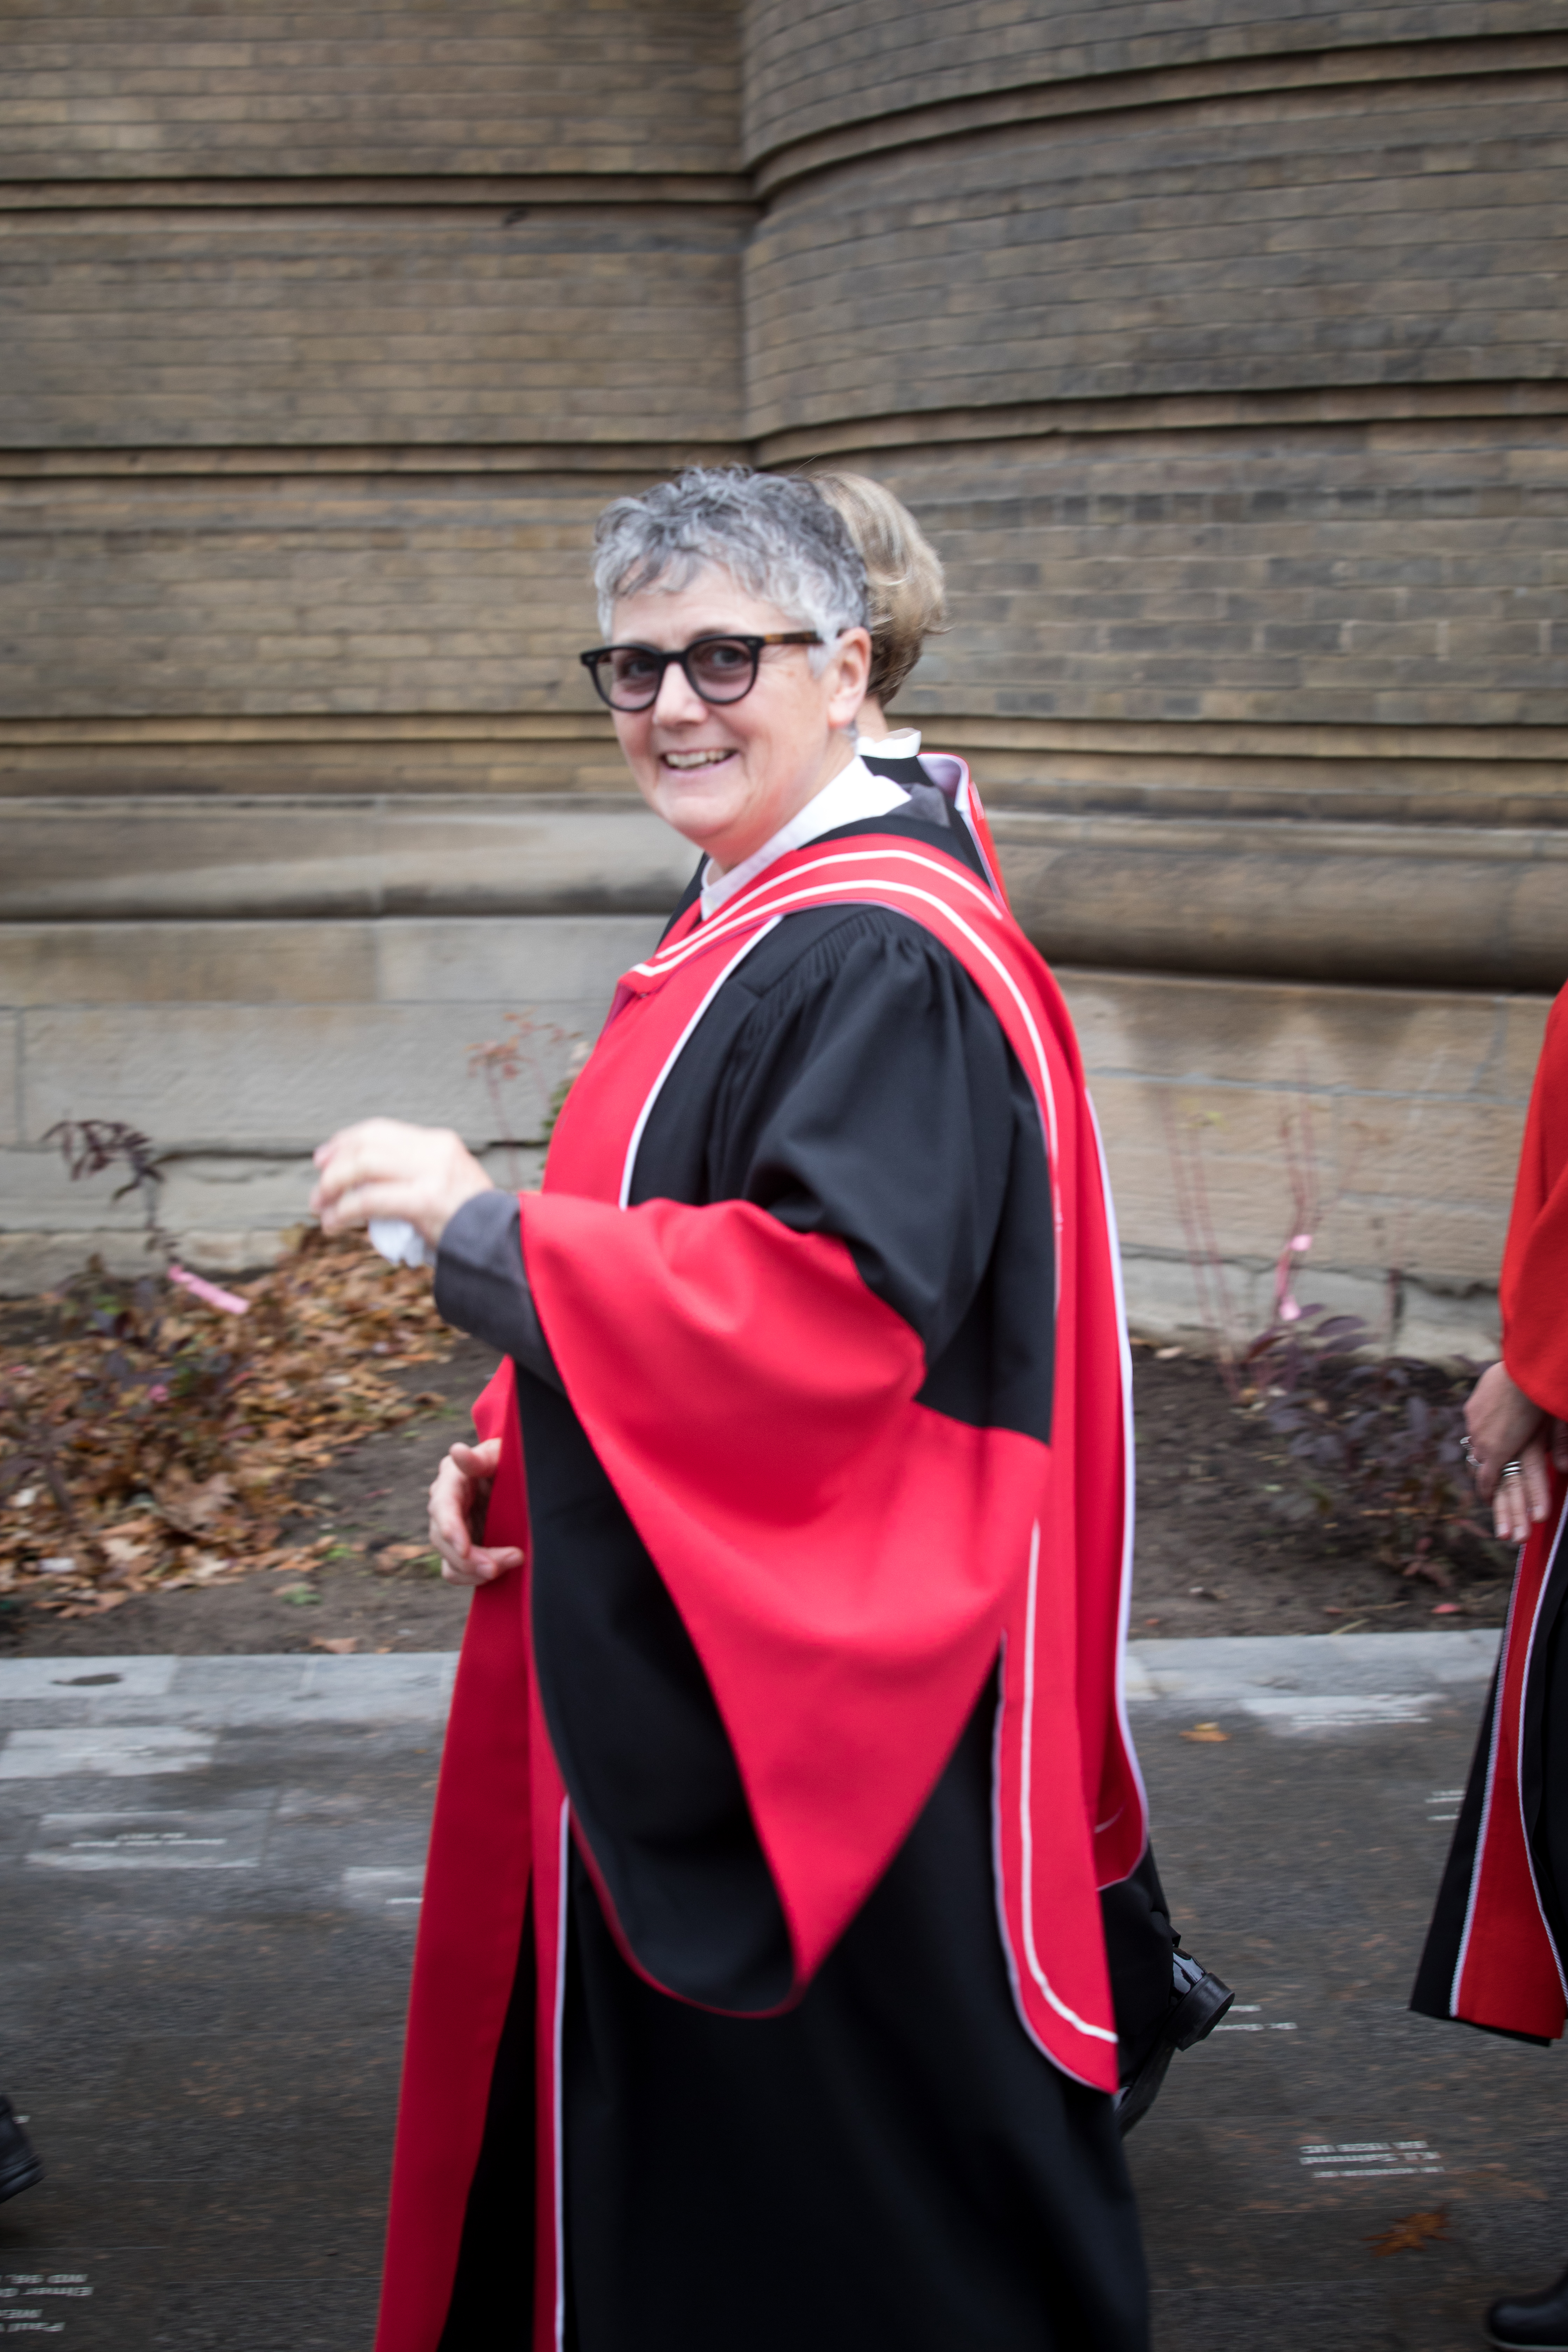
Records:
M1166 1891L1237 1990L1128 2143L1159 2352L1474 2352L1568 2263L1561 2051L1406 2009L1495 1635L1352 1639L1143 1649Z

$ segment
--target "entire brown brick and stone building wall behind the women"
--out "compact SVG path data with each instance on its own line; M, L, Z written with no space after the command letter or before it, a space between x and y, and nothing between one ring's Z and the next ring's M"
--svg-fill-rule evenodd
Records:
M1309 1216L1309 1294L1486 1345L1568 976L1561 9L24 0L5 54L0 1282L134 1251L59 1117L219 1265L339 1117L505 1164L686 866L574 661L592 515L832 456L947 560L900 710L1065 969L1135 1317L1255 1324Z

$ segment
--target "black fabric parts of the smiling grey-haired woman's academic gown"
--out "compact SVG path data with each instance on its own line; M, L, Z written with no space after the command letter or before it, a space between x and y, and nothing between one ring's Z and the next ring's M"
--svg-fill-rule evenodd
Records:
M957 828L879 816L969 854ZM1039 1115L969 976L875 906L785 917L649 1117L635 1200L752 1200L842 1235L926 1348L922 1402L1051 1432ZM696 1649L531 1310L517 1204L470 1202L442 1312L520 1364L534 1644L574 1811L649 1985L571 1856L562 2027L576 2352L1140 2352L1112 2103L1013 2006L992 1877L987 1686L924 1813L804 1997ZM491 2089L442 2352L527 2343L531 1950ZM1166 1947L1168 1950L1168 1947ZM510 2218L508 2218L510 2216Z

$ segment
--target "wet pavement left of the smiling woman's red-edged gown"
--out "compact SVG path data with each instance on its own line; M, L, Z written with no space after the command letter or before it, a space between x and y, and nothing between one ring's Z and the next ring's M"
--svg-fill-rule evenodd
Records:
M369 2345L454 1663L0 1665L0 2336Z

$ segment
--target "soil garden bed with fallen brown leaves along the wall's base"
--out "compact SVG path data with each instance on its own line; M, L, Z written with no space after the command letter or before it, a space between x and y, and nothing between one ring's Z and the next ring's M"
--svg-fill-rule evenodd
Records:
M78 1298L61 1338L59 1303L0 1308L0 1359L12 1376L0 1653L343 1653L461 1642L468 1595L440 1581L425 1494L447 1444L468 1435L491 1352L442 1331L428 1277L390 1272L362 1244L310 1244L237 1289L254 1322L226 1322L181 1291L172 1305L143 1298L139 1322L120 1310L94 1329ZM96 1296L103 1319L127 1291L106 1284ZM228 1392L235 1367L214 1369L221 1345L242 1371ZM169 1395L155 1397L172 1381L153 1378L181 1362L195 1430L183 1451L165 1442ZM1396 1555L1387 1512L1366 1515L1354 1498L1335 1510L1321 1479L1302 1484L1267 1390L1227 1383L1215 1362L1168 1348L1135 1348L1133 1364L1133 1637L1502 1623L1509 1559L1497 1545L1465 1541L1436 1571L1427 1562L1403 1573L1410 1562ZM1462 1388L1439 1374L1432 1383L1450 1411ZM101 1489L78 1491L75 1534L35 1468L16 1477L19 1397L45 1392L61 1468L78 1489ZM16 1494L31 1494L24 1510ZM40 1501L49 1534L38 1534ZM19 1524L33 1534L24 1538ZM40 1557L78 1557L78 1569L45 1571Z

